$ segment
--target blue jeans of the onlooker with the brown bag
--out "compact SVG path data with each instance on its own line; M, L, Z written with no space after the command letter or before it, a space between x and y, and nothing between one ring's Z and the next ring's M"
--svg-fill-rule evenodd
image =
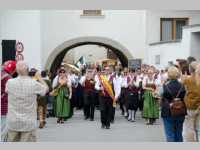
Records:
M185 117L163 118L167 142L183 142L183 122Z

